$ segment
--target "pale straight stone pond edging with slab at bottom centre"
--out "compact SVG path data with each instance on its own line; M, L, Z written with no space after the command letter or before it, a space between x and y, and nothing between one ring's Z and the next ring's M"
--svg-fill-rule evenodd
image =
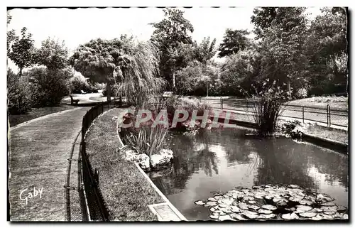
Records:
M160 203L160 204L155 204L155 205L148 205L148 207L151 209L151 211L153 212L153 214L157 215L158 220L159 221L163 221L162 217L160 217L160 215L158 215L158 212L156 212L156 210L154 209L155 206L159 206L159 205L168 205L170 207L171 210L165 210L165 212L167 213L171 213L173 215L171 215L171 217L174 217L174 214L176 216L179 217L180 221L185 220L187 221L187 219L185 218L184 215L182 215L178 209L176 209L176 207L174 207L174 205L168 200L167 197L165 197L165 195L163 194L163 192L161 192L159 190L159 188L153 183L153 181L151 180L151 178L148 177L148 175L142 170L142 168L138 165L138 163L134 163L136 165L136 167L138 168L138 170L141 172L141 174L144 176L144 178L146 178L146 180L148 180L148 182L151 184L151 186L154 188L154 190L156 192L158 192L158 194L160 195L160 197L163 198L163 200L165 200L164 203ZM170 221L170 220L168 220Z

